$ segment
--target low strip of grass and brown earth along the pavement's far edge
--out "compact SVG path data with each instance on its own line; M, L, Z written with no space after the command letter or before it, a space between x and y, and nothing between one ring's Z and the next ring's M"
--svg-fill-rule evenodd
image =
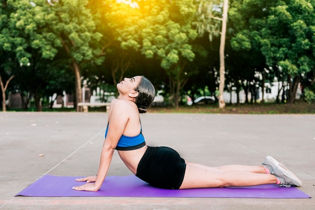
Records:
M1 110L0 110L1 111ZM7 111L24 111L22 109L8 109ZM27 111L36 111L31 107ZM74 108L43 108L43 112L74 112ZM89 112L105 112L104 107L90 107ZM213 113L213 114L315 114L315 103L308 104L297 101L294 104L226 104L224 109L217 104L182 105L178 109L172 106L153 106L148 108L150 113Z

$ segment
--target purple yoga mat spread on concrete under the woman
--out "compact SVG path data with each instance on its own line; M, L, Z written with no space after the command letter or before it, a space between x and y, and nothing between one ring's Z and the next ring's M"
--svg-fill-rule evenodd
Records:
M76 191L76 182L69 176L45 175L16 196L33 197L239 197L239 198L309 198L295 187L276 187L273 184L251 187L226 187L205 189L160 189L140 180L134 175L106 177L97 192Z

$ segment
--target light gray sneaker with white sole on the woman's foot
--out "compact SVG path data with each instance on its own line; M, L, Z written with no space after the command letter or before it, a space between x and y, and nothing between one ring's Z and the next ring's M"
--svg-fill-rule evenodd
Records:
M270 174L275 175L280 180L281 183L278 184L278 186L290 187L291 185L294 185L299 187L302 185L299 178L273 157L267 156L262 165L270 171Z

